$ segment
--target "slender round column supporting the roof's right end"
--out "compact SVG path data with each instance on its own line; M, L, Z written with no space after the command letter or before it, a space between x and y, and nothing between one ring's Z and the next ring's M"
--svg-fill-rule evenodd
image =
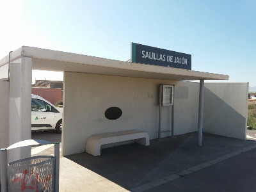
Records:
M200 79L199 109L198 109L198 146L202 146L204 115L204 79Z

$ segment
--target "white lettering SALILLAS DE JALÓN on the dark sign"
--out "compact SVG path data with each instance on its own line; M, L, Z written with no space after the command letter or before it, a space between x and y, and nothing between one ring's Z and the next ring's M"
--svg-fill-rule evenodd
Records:
M141 58L149 59L149 60L157 60L157 61L167 61L170 63L179 63L183 65L188 65L188 60L186 58L179 58L175 57L173 61L173 56L171 55L165 55L165 54L159 54L157 52L150 52L150 51L142 51ZM167 60L166 60L167 58Z

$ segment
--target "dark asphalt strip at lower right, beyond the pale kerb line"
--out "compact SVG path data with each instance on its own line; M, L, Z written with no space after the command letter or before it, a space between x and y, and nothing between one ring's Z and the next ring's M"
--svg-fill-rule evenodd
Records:
M255 154L244 152L146 191L256 191Z

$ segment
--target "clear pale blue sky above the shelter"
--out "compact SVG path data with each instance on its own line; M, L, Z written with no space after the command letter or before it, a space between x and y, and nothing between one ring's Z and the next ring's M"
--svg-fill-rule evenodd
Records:
M22 45L127 61L131 42L256 86L256 1L0 1L0 58ZM62 74L33 72L34 79Z

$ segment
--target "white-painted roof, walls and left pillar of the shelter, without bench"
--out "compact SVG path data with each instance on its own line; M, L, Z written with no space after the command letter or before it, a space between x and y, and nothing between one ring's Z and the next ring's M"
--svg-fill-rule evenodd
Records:
M196 131L199 84L182 81L228 79L220 74L106 60L35 47L20 47L13 51L11 61L21 65L13 70L17 76L11 74L16 83L10 87L9 145L31 138L32 62L33 69L68 71L64 80L64 155L84 152L84 141L92 134L102 132L138 129L147 132L150 139L157 138L159 84L175 85L174 135ZM0 60L0 67L6 63L8 56ZM209 94L205 95L204 131L245 139L248 84L214 84L206 88L209 92L205 93ZM104 111L111 106L123 110L118 120L104 117ZM172 109L170 106L162 109L162 130L170 130ZM169 135L170 132L166 132L162 137ZM19 152L15 153L15 158L27 155Z

